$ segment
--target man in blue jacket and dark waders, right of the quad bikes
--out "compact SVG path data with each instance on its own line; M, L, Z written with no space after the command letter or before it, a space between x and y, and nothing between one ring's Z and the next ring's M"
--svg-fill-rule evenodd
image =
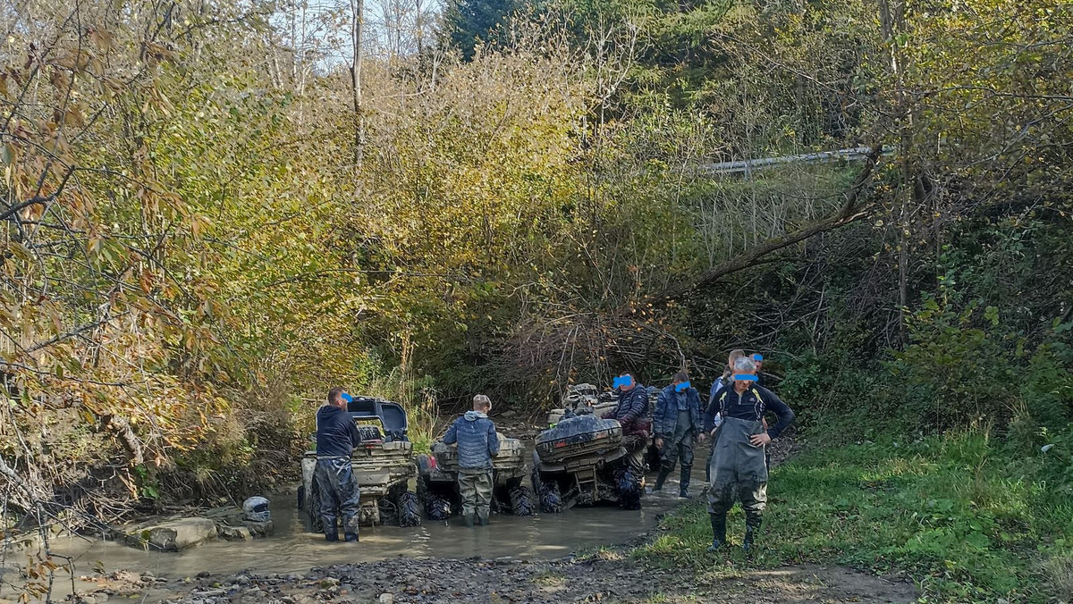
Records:
M678 497L689 497L689 474L693 471L693 438L704 441L701 424L701 396L689 385L685 371L674 374L670 386L660 392L652 418L656 446L660 450L660 473L655 490L663 489L663 482L681 461Z

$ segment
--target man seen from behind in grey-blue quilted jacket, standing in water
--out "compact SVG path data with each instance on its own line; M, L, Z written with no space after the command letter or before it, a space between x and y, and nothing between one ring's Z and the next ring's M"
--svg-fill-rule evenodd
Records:
M458 443L458 492L462 498L462 525L488 524L491 505L491 458L499 454L496 425L488 419L491 400L473 397L473 411L455 419L443 437L446 444Z

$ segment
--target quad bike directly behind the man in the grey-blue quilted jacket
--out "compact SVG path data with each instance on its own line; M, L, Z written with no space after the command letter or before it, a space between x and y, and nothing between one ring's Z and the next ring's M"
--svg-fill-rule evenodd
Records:
M491 511L515 516L532 515L532 492L524 485L525 445L499 434L499 454L491 458ZM442 440L432 443L432 455L417 458L417 495L429 520L446 520L461 513L458 493L458 447Z

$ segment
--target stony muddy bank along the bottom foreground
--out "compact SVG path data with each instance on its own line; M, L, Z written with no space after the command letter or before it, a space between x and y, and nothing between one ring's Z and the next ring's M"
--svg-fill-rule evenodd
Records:
M361 545L354 545L355 549ZM712 564L720 564L712 557ZM653 571L624 550L567 560L397 559L314 568L305 574L240 573L202 576L193 583L148 578L163 601L174 604L449 604L563 602L741 602L749 603L910 603L912 585L891 583L844 569L787 566L743 571L731 578L696 577ZM129 577L128 577L129 579ZM86 593L74 602L102 602ZM130 590L112 590L133 595Z

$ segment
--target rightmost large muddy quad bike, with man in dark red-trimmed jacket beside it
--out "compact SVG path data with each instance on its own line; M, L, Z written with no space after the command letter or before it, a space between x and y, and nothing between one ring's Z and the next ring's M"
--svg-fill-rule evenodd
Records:
M533 452L532 485L541 512L600 502L641 509L644 476L630 467L622 425L600 417L614 409L612 396L579 384L563 397L571 407L552 412L552 427L536 437Z

